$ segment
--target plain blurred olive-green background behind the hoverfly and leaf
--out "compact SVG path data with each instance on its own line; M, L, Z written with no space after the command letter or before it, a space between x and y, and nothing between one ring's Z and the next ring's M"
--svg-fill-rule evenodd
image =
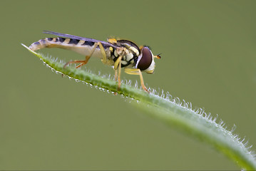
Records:
M256 1L1 1L0 169L239 169L119 95L61 78L21 43L49 30L149 45L163 58L153 75L143 75L147 86L218 114L255 145L255 9ZM62 49L40 52L83 59ZM86 68L113 76L97 59Z

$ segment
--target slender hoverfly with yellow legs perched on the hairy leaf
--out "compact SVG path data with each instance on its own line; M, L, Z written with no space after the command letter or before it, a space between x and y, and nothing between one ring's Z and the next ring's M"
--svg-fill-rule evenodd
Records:
M108 41L98 41L93 38L84 38L73 36L65 33L57 33L53 31L43 31L43 33L53 34L56 38L43 38L29 46L32 51L41 48L64 48L86 56L85 60L69 61L64 68L71 63L79 63L76 68L88 63L91 56L101 58L104 64L113 66L115 70L115 78L118 81L118 90L121 87L121 68L128 74L140 76L140 84L143 90L148 92L143 82L141 71L153 73L155 70L154 58L160 58L160 55L153 56L148 46L140 46L140 48L128 40L117 40L116 38L108 38Z

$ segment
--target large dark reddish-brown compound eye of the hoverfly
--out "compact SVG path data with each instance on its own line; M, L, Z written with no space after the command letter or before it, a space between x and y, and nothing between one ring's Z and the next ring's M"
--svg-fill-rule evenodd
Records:
M151 65L153 56L148 47L143 47L141 50L141 53L142 53L142 56L140 58L140 61L138 62L137 68L139 68L140 71L143 71Z

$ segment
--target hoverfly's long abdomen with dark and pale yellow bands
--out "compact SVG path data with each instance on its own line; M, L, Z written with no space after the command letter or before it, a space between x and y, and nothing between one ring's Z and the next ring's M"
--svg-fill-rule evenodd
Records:
M64 48L71 51L75 51L84 56L91 54L95 42L93 41L83 41L75 38L44 38L39 41L36 41L29 46L32 51L37 51L41 48ZM110 58L111 52L109 48L105 48L107 58ZM97 47L93 52L93 56L102 58L100 48Z

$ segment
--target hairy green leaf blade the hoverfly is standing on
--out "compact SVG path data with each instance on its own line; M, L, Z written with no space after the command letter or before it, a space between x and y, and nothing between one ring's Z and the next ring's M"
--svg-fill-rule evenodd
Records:
M22 45L31 51L24 44ZM172 98L168 93L161 92L161 95L158 95L153 89L150 89L152 93L146 93L144 90L125 83L122 83L120 90L117 91L118 84L110 78L73 67L63 68L64 63L62 62L34 51L31 53L34 53L56 73L61 73L76 81L83 81L83 83L108 93L118 93L133 99L134 102L137 102L133 103L134 105L155 120L160 120L171 128L182 130L183 133L208 143L230 157L244 170L256 170L255 157L249 150L250 147L247 147L245 138L241 140L237 135L232 134L235 127L232 130L227 130L222 120L220 123L216 123L217 118L213 118L202 109L193 110L191 103L185 103L184 100L181 102L178 98Z

